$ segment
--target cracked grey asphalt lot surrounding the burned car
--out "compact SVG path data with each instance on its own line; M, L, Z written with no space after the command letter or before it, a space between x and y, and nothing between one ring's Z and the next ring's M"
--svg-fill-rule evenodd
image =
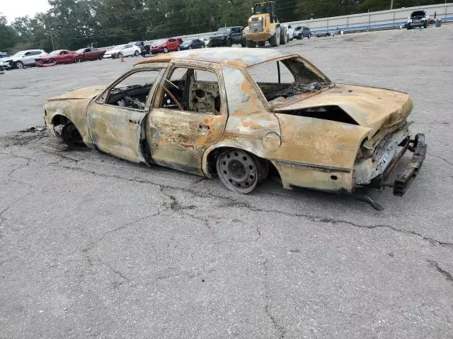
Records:
M337 82L407 91L428 155L406 196L226 191L69 150L47 97L138 58L0 76L0 338L452 338L453 25L294 41Z

